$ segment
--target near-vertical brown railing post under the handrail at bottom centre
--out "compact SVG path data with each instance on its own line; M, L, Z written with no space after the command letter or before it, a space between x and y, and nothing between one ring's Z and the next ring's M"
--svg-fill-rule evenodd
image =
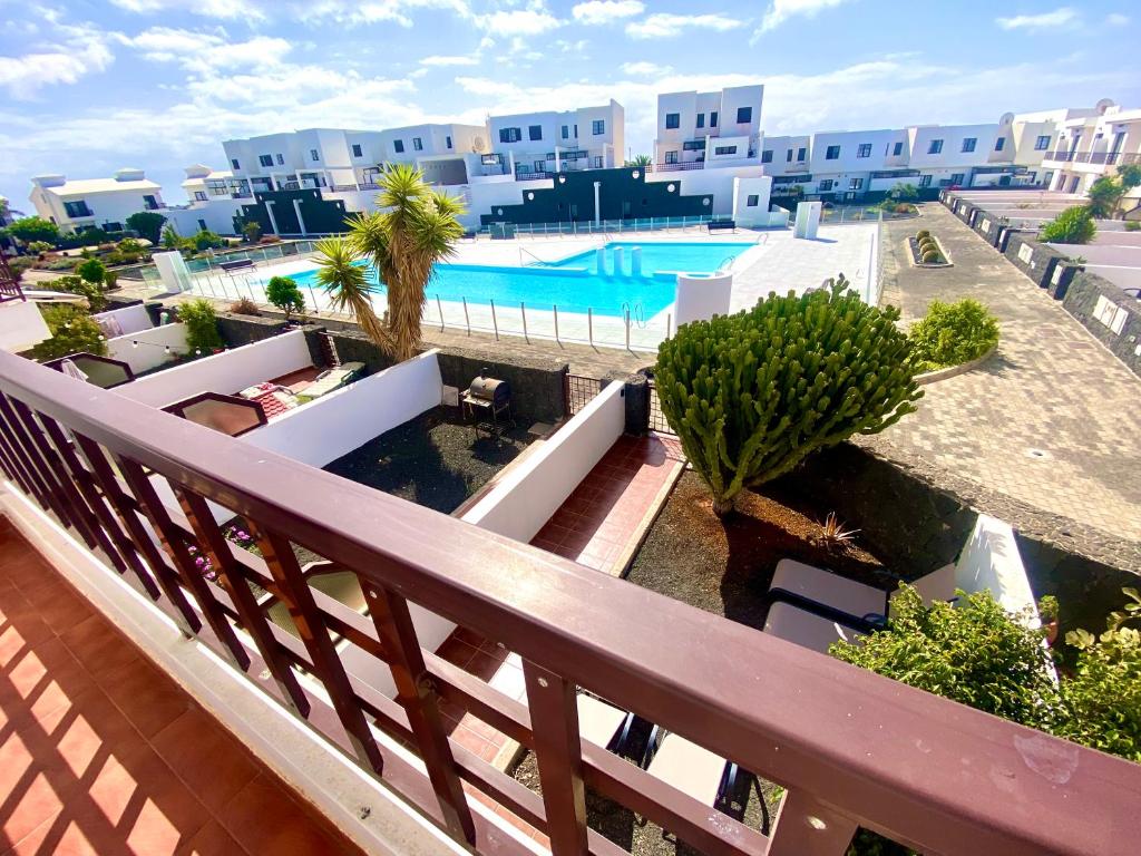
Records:
M586 788L575 686L529 660L523 661L523 675L551 853L577 856L586 853Z

